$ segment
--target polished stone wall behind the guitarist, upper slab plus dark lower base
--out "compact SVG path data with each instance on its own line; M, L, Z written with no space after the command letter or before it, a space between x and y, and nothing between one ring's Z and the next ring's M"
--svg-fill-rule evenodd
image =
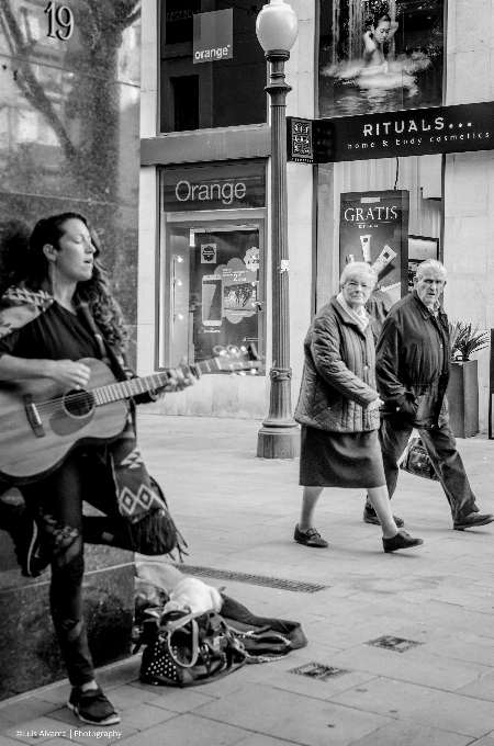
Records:
M103 239L104 263L135 336L139 0L65 4L74 13L67 41L56 36L67 33L56 24L48 35L44 0L0 5L0 247L41 217L82 213ZM3 531L0 544L2 699L65 670L47 621L49 570L23 578ZM90 547L87 568L86 611L101 665L130 653L132 555Z

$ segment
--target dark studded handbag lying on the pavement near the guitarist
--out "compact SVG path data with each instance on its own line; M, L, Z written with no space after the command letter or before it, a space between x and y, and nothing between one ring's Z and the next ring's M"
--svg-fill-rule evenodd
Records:
M159 619L143 653L141 681L194 687L223 678L245 663L243 645L220 614L170 611Z

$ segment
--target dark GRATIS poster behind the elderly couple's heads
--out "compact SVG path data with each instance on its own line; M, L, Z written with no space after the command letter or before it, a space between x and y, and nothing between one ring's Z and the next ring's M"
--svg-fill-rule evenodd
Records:
M353 261L372 264L386 307L408 292L408 211L406 190L340 195L340 274Z

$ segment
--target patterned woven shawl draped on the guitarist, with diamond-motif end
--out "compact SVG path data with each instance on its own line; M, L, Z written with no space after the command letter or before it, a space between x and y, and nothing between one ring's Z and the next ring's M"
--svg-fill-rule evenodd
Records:
M54 302L55 298L46 290L30 290L24 282L9 287L0 299L0 339L34 321ZM105 347L109 349L108 344ZM120 366L119 378L133 376L132 372L130 374L124 372L114 355L109 357L113 359L113 368ZM109 362L108 357L104 362ZM151 488L149 475L137 450L133 414L131 405L125 428L120 437L106 447L106 454L112 468L119 510L124 518L136 523L148 512L162 508L162 502Z

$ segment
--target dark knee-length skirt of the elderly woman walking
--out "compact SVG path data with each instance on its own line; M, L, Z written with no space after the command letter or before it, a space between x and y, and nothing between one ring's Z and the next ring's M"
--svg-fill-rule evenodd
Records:
M386 483L378 431L328 432L302 426L300 484L382 487Z

